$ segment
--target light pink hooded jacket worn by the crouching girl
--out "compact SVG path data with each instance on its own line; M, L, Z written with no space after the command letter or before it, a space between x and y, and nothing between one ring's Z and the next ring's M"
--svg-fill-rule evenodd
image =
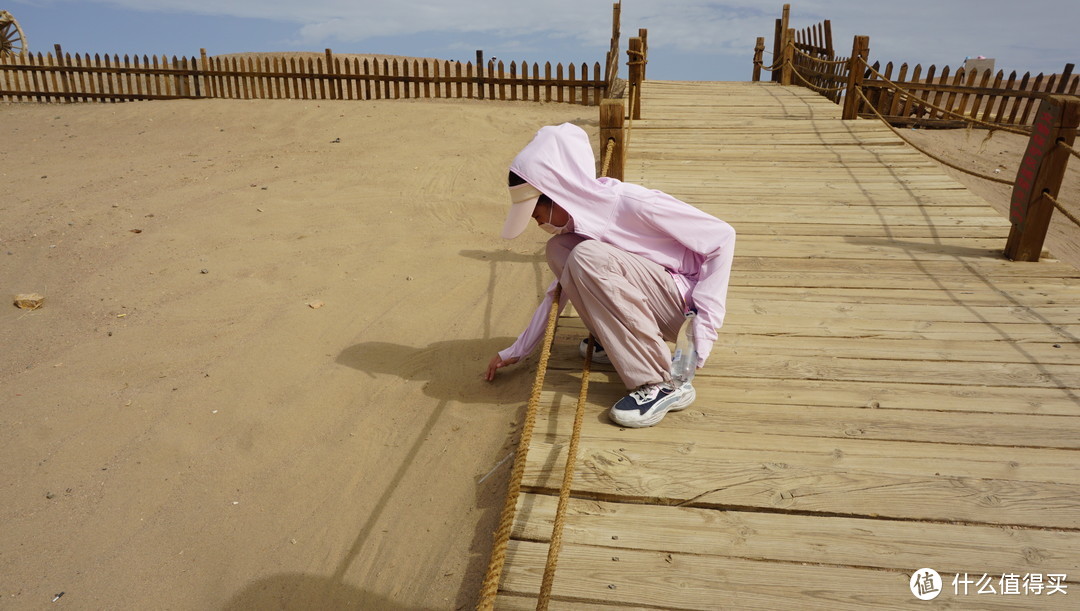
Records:
M662 266L687 308L698 311L698 366L724 324L735 232L730 225L661 191L596 177L589 136L577 125L541 127L510 169L566 209L573 232ZM503 359L532 352L543 337L558 279ZM565 298L559 308L565 305Z

